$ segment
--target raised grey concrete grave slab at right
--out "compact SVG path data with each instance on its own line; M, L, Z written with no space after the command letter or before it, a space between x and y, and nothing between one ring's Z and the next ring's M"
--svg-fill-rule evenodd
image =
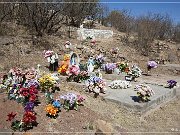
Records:
M107 85L109 83L110 82L107 82ZM139 84L139 82L133 82L132 87L127 89L111 89L107 87L104 98L130 111L143 114L176 96L176 89L164 88L157 84L147 84L154 90L155 95L150 97L149 102L139 103L136 94L137 91L134 91L134 87L137 84Z

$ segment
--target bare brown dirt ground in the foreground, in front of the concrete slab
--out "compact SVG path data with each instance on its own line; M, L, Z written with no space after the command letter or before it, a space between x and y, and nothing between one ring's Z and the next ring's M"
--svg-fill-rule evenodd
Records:
M163 81L167 78L165 75L160 75L161 79L155 78L154 76L157 75L151 77L154 78L153 80L151 79L151 83L164 83ZM147 76L143 76L140 79L148 80L148 78ZM174 76L174 78L178 79L178 76ZM145 115L140 115L128 111L116 103L106 101L103 95L94 98L93 94L89 94L67 83L68 82L62 81L60 91L56 91L54 97L70 91L80 93L86 97L84 106L79 106L78 111L70 110L69 112L61 108L59 117L51 119L46 116L46 112L44 111L46 106L44 93L40 93L39 99L41 104L35 107L37 122L39 124L32 130L27 131L28 133L50 134L54 132L56 134L70 134L76 132L78 134L94 134L98 128L103 128L101 130L104 130L104 132L115 132L117 134L126 134L128 132L127 134L168 133L174 135L178 134L180 131L179 89L177 89L176 98L151 110ZM119 92L120 91L119 89ZM16 110L16 117L21 118L23 115L23 108L21 104L8 100L6 93L1 93L0 96L0 129L2 130L1 132L11 132L10 122L6 121L7 113ZM98 123L102 125L102 127L100 127Z

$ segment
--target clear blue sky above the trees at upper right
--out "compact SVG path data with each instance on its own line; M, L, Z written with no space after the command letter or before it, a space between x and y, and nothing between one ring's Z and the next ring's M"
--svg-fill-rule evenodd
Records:
M133 16L148 12L168 14L174 23L180 23L180 0L100 0L109 10L128 9Z

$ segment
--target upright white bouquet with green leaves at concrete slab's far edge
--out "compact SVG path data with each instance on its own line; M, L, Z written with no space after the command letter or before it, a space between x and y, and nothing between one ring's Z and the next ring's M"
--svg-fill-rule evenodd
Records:
M127 81L135 81L135 78L138 78L142 75L142 70L137 66L133 65L132 69L128 72L128 76L126 76Z

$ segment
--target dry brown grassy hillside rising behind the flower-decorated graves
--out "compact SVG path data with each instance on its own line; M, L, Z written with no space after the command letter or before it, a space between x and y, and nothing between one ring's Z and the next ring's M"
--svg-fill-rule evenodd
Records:
M8 25L9 26L9 25ZM43 58L43 50L54 50L59 54L60 60L66 53L64 44L69 40L73 45L73 51L80 55L82 61L87 61L89 55L96 55L103 53L107 57L107 62L118 62L122 59L126 59L129 64L137 63L144 71L146 70L146 64L148 60L159 61L160 64L178 64L180 63L180 50L179 44L171 43L168 41L155 41L152 43L152 50L149 55L143 56L139 51L133 48L133 44L136 41L136 36L131 35L129 37L128 44L124 44L124 33L118 32L111 27L101 26L96 24L95 29L113 30L113 37L110 39L100 39L96 41L95 45L91 44L91 41L79 41L77 40L77 28L71 27L71 38L68 38L68 27L64 26L57 32L56 35L34 37L26 31L25 28L18 26L11 26L13 34L9 36L0 37L0 70L7 71L11 67L21 66L27 68L30 65L36 66L41 64L47 65L46 59ZM112 54L110 50L118 48L117 54ZM30 64L31 63L31 64ZM159 74L164 72L156 69ZM154 70L154 72L156 72ZM166 72L165 72L166 73Z

